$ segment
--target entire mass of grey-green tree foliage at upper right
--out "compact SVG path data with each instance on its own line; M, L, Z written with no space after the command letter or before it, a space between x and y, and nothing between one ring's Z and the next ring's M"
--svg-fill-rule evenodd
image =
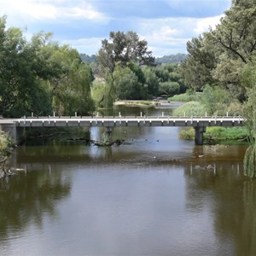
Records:
M255 54L255 18L255 0L235 1L215 29L192 38L181 65L184 83L194 90L218 84L244 102L247 83L241 81L240 73Z

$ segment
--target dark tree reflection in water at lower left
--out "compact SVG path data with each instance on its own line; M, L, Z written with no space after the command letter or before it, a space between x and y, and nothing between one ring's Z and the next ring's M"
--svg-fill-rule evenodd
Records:
M22 236L28 226L40 230L46 216L59 218L56 203L70 193L70 177L61 170L20 171L15 177L1 179L0 185L0 252L4 255L10 241ZM3 254L2 254L3 253Z

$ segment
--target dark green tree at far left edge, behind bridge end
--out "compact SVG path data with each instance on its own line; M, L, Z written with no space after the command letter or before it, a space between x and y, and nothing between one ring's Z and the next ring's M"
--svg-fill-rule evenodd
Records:
M44 98L43 111L49 110L48 97L38 83L33 67L32 45L27 44L19 28L5 28L6 17L0 18L0 114L20 116L37 108Z

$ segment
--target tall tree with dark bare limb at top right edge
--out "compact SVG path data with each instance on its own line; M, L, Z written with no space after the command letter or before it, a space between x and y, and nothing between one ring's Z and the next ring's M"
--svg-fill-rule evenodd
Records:
M244 101L246 88L241 84L241 68L252 61L256 50L256 2L234 1L220 24L211 32L212 44L218 47L218 65L212 73L220 84Z

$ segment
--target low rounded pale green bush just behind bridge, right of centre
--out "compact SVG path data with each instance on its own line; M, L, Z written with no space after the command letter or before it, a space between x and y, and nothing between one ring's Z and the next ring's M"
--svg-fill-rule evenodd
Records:
M174 109L174 116L204 116L206 108L200 102L187 102L181 107Z

